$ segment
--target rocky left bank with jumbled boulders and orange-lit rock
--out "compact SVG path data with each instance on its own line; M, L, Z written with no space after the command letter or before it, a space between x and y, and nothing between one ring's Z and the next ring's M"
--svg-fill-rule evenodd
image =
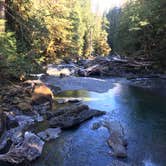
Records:
M56 109L54 104L58 101L54 102L53 92L39 80L3 87L0 99L0 160L12 164L38 158L45 142L56 139L61 129L78 126L94 116L105 114L73 99L66 101L74 102L70 106ZM32 130L44 121L49 128L40 132Z

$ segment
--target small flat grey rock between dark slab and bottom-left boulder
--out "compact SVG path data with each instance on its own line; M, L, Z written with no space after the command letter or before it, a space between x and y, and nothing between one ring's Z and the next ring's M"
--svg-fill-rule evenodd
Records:
M48 128L45 131L38 133L37 135L44 141L50 141L56 139L60 133L60 128Z

